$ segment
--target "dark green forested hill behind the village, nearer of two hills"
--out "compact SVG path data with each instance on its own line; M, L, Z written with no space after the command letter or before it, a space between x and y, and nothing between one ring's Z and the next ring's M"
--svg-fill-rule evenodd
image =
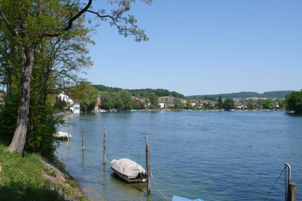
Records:
M120 90L124 90L122 88L105 86L103 84L93 84L92 86L95 87L96 89L98 89L99 91L118 92ZM174 97L181 97L181 98L185 97L183 94L178 93L176 91L169 91L168 89L162 89L162 88L158 88L158 89L151 89L151 88L125 89L125 90L128 90L133 96L137 96L137 97L143 97L143 96L145 96L145 94L147 94L149 92L154 92L158 97L168 96L170 94Z

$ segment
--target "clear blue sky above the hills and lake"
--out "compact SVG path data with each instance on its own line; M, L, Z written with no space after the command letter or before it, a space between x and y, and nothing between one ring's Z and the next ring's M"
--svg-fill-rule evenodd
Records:
M107 7L94 1L94 8ZM101 23L89 46L94 84L184 95L302 88L302 1L137 0L149 41Z

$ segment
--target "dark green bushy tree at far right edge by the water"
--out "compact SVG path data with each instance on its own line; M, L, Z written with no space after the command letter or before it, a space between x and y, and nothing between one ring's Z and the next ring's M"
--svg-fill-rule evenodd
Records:
M294 111L295 114L302 114L302 90L292 91L285 96L286 110Z

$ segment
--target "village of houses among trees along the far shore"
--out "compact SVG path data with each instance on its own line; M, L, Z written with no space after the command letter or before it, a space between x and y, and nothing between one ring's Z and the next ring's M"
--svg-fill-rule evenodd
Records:
M112 104L111 108L103 107L102 95L98 95L94 107L89 110L83 109L80 105L81 100L71 99L67 94L60 93L58 95L59 102L63 102L61 112L70 111L73 114L79 114L81 112L119 112L119 111L145 111L145 110L284 110L284 99L280 98L259 98L259 97L249 97L249 98L222 98L215 99L185 99L180 97L164 96L159 97L157 104L152 103L148 98L132 96L131 107L128 110L121 110L115 108ZM215 100L214 100L215 99ZM228 106L226 106L226 102ZM106 101L106 100L103 100Z

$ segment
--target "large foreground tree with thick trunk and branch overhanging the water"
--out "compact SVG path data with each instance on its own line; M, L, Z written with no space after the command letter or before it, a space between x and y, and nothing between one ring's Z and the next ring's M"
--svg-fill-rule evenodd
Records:
M152 0L144 0L151 4ZM125 37L132 35L136 42L146 41L148 38L144 30L136 25L133 16L124 17L130 10L130 2L124 0L109 1L118 4L118 9L107 14L105 10L99 12L90 10L92 0L82 8L80 1L4 1L0 0L0 15L3 22L0 33L11 39L20 52L20 92L16 129L8 150L22 154L28 129L31 77L37 47L43 39L58 37L72 29L74 22L83 18L83 14L92 13L101 21L110 19L110 25L118 29Z

